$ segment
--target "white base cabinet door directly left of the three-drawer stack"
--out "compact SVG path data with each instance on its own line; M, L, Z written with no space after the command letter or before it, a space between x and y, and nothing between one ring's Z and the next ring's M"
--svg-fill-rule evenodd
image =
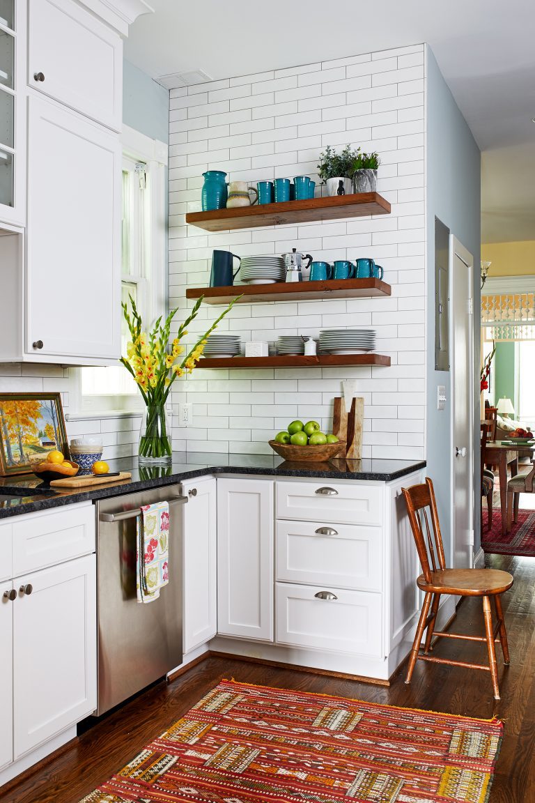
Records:
M217 479L217 633L274 638L274 483Z

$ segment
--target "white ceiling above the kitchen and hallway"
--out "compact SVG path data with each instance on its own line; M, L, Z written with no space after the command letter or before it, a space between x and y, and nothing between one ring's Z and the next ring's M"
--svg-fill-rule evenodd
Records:
M533 0L150 0L125 56L213 79L428 42L480 149L482 240L535 239ZM380 11L379 11L380 9Z

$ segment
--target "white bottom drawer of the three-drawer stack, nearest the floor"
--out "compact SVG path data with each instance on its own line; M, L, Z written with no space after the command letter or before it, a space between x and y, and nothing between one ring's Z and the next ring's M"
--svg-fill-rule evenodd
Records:
M380 594L277 583L276 599L278 644L380 657Z

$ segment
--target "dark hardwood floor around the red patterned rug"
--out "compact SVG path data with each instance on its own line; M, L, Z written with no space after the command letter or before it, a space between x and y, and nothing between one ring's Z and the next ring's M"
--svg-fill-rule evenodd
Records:
M212 657L173 683L146 691L37 769L0 789L0 801L77 803L179 719L221 678L484 719L496 715L505 722L505 738L489 803L535 801L535 558L495 555L487 558L487 564L506 569L515 578L513 589L503 597L511 666L505 667L500 655L500 701L492 698L488 673L422 661L417 662L409 687L403 683L404 667L395 674L391 686L384 687ZM475 628L483 633L481 609L479 599L465 600L453 627L461 633L473 633ZM483 657L484 645L448 639L439 649L451 657L474 660Z

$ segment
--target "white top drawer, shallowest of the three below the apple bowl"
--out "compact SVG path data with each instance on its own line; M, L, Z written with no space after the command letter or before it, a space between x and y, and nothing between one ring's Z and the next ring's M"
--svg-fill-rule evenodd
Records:
M381 524L384 488L374 485L277 483L277 518Z

